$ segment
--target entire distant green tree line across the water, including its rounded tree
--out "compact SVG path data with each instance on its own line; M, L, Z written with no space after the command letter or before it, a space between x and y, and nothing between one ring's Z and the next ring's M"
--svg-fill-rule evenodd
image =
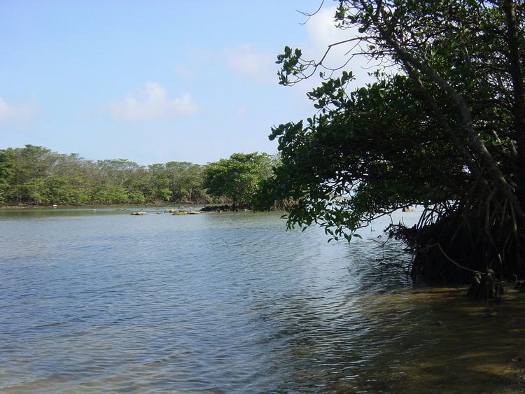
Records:
M90 204L246 205L276 158L234 153L207 165L87 160L42 146L0 150L0 206Z

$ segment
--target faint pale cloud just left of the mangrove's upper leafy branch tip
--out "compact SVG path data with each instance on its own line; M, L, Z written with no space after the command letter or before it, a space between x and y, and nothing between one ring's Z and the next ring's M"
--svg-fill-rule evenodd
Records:
M225 49L228 65L248 78L261 83L276 83L275 54L256 52L250 45Z

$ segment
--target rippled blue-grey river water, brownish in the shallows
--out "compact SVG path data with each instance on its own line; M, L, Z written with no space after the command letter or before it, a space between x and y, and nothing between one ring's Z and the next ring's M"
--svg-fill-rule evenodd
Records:
M525 295L381 269L387 219L328 244L277 213L146 210L0 211L0 391L524 391Z

